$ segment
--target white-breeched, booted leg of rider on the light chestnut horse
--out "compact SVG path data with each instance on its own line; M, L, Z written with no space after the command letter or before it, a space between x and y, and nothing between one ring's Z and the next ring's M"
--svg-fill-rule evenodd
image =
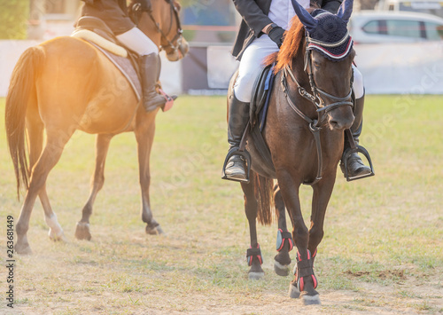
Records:
M144 35L139 28L132 28L117 39L131 51L140 56L140 72L142 75L143 104L147 112L164 106L166 99L155 90L159 74L159 48L152 40Z

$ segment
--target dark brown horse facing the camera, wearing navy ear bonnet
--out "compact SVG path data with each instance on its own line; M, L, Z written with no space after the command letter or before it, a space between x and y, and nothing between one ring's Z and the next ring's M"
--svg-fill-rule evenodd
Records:
M274 202L279 228L275 270L280 275L289 273L289 251L295 246L297 267L289 294L309 304L320 303L313 264L323 239L325 212L343 153L344 130L354 121L354 50L346 30L352 0L344 1L337 15L309 9L311 15L296 1L292 3L298 17L292 20L281 51L269 58L276 61L276 78L262 137L272 162L269 165L263 158L252 131L246 146L252 156L251 182L241 185L251 236L246 254L251 266L249 278L260 279L264 275L256 221L270 224L270 206ZM313 189L309 229L300 209L302 184ZM292 232L286 228L285 209L291 218Z

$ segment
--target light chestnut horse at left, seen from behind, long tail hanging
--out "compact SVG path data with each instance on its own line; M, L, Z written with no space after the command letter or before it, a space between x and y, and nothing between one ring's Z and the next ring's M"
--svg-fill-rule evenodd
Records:
M136 8L134 4L136 1L130 8ZM183 58L188 43L180 28L180 4L173 0L152 0L151 4L151 14L130 10L138 16L139 28L166 51L169 60ZM81 39L58 37L31 47L21 55L12 73L5 106L7 141L18 191L23 185L27 189L16 225L17 253L32 253L27 230L37 196L50 227L50 238L64 238L46 193L46 178L75 130L97 134L96 169L89 200L77 224L76 238L91 238L89 217L97 193L104 185L109 143L113 136L128 131L136 135L141 212L146 232L162 232L152 217L149 199L150 154L157 111L146 113L120 70L103 53ZM44 130L46 141L43 145Z

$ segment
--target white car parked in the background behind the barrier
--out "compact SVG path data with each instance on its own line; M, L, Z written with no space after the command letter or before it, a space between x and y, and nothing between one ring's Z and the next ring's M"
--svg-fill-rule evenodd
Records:
M354 12L348 24L355 43L443 40L443 19L416 12Z

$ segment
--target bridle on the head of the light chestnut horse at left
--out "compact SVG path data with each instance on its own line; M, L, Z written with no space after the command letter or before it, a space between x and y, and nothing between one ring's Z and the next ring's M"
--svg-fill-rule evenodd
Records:
M157 32L161 35L161 38L163 40L165 40L167 42L166 45L161 45L159 47L159 50L166 50L167 48L169 48L171 51L177 51L180 50L180 52L182 53L182 55L185 55L185 51L183 51L183 46L182 46L182 41L183 41L183 29L182 29L182 24L180 23L180 17L179 17L179 12L177 10L177 8L175 7L174 3L172 0L165 0L167 2L167 4L170 5L170 15L171 15L171 22L169 24L169 28L167 29L167 32L164 32L160 26L159 26L159 22L157 22L154 18L154 16L152 15L152 4L151 1L148 1L148 7L147 8L143 8L142 4L140 3L136 3L133 4L132 6L132 12L134 12L133 14L133 20L135 21L136 24L138 24L138 14L141 12L146 12L150 19L152 20L152 22L154 23L155 27L157 28ZM167 35L171 32L172 27L173 27L173 17L175 18L175 23L177 24L177 32L175 33L175 36L172 40L169 40L167 38Z

